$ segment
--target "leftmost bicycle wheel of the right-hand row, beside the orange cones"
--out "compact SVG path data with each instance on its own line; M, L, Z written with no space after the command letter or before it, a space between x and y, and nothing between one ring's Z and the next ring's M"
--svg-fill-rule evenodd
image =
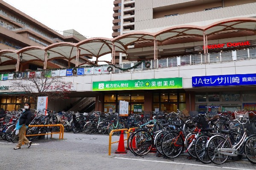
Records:
M153 136L143 130L134 133L133 137L131 138L131 141L133 140L135 140L136 147L131 147L131 150L133 150L133 152L139 156L148 154L154 143Z

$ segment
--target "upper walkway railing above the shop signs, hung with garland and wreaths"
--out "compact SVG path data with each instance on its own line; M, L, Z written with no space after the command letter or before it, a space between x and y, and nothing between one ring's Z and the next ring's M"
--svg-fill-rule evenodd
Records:
M113 70L111 72L108 72L109 65L85 67L83 74L81 74L82 72L81 69L83 69L82 67L78 68L79 70L76 70L76 71L79 73L77 76L99 75L99 74L119 74L122 72L140 72L140 71L151 70L151 69L162 69L162 68L171 68L171 67L175 68L179 66L189 66L189 65L196 65L196 64L198 65L214 64L214 63L224 63L224 62L233 62L233 61L243 61L243 60L250 60L250 59L256 59L256 48L233 50L230 52L219 52L219 53L212 53L212 54L185 55L185 56L177 56L172 58L164 58L159 60L145 61L145 63L150 62L149 67L146 67L144 63L140 63L140 62L122 63L122 64L115 65L115 67L112 66ZM59 63L58 61L55 61L55 60L51 62L64 66L63 63ZM121 69L116 67L119 67ZM62 70L61 71L62 74L59 76L65 76L63 75L63 70L65 70L65 68L60 70ZM55 72L55 76L58 76L56 75L58 74L56 70L52 70L52 72ZM3 76L1 80L7 80L6 74L0 74L0 76ZM67 75L67 76L70 76L70 75Z

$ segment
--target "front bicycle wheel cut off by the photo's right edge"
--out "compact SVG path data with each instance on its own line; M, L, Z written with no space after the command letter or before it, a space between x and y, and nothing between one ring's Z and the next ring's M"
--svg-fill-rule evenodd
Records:
M250 163L256 164L256 135L249 136L246 139L244 153Z

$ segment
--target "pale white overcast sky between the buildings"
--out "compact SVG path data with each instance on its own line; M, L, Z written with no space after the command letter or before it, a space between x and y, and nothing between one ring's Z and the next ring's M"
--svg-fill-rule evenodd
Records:
M63 35L75 29L87 38L112 38L113 0L3 0ZM95 60L95 58L93 59ZM111 61L111 54L100 61Z

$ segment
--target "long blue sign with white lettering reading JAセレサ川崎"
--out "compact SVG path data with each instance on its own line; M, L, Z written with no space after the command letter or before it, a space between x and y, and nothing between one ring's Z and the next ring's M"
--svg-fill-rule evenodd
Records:
M192 77L192 86L241 86L255 85L256 74L246 75L209 75Z

